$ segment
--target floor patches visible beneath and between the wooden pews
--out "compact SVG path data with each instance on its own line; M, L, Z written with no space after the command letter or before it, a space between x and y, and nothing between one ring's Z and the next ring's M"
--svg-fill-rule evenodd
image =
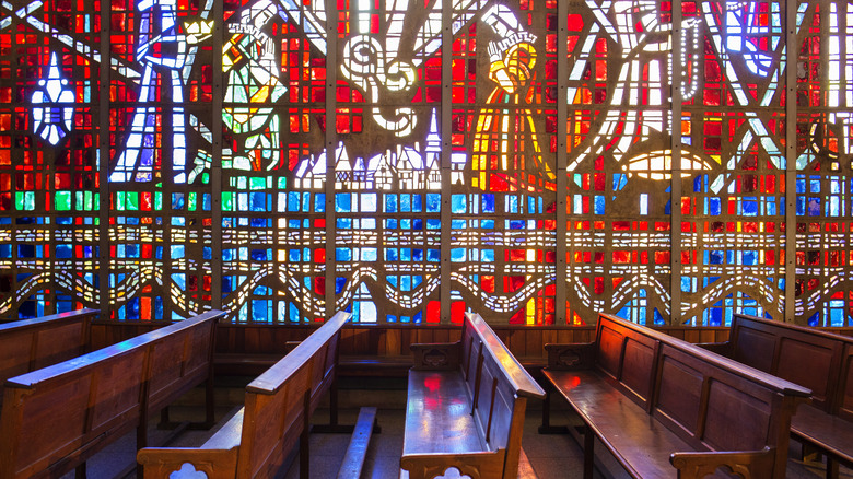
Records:
M239 400L239 389L223 390L218 388L217 418L219 423L224 423L231 414L236 412ZM203 408L194 407L191 402L200 397L200 394L192 394L177 407L172 408L173 420L202 420ZM383 390L341 390L340 423L353 424L358 417L358 406L377 406L379 408L377 421L382 428L379 434L374 434L370 452L365 462L363 478L372 479L398 479L399 459L402 449L402 428L405 422L405 398L406 392L397 389ZM232 402L232 404L229 404ZM524 432L524 451L530 459L530 463L539 478L581 478L583 455L577 441L570 434L563 435L540 435L537 432L540 421L540 409L538 404L533 404L527 412L527 420ZM152 421L155 422L155 421ZM313 422L322 424L328 422L328 409L319 409ZM565 412L554 411L552 413L552 423L573 424L576 419ZM152 425L152 442L159 441L167 435L167 431L157 431ZM211 431L186 431L173 446L197 446L209 437L215 428ZM107 449L98 453L89 463L89 477L93 479L113 479L121 478L120 472L133 462L133 442L135 434L128 434L118 443L109 446ZM343 454L349 443L347 434L313 434L311 440L311 477L312 478L335 478L338 468L343 459ZM792 444L792 459L788 460L787 477L793 479L817 479L825 477L822 464L803 464L793 459L798 449L796 444ZM596 457L596 479L622 478L624 472L619 470L612 458L603 448L598 447ZM299 478L299 462L295 460L290 470L282 475L283 479ZM133 475L126 476L135 477ZM458 477L449 476L448 477ZM62 479L73 479L73 474L66 475ZM853 479L853 471L842 467L841 479Z

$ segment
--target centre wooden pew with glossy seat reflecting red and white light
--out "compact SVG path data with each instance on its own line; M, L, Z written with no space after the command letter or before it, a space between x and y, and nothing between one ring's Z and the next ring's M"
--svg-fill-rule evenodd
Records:
M518 477L527 399L545 390L478 314L465 315L459 341L412 351L400 476Z

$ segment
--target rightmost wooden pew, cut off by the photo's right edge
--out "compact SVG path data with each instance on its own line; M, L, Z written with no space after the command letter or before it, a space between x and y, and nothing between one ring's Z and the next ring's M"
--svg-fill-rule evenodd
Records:
M732 317L728 341L699 344L811 389L791 432L827 455L827 477L839 462L853 467L853 338L743 314Z

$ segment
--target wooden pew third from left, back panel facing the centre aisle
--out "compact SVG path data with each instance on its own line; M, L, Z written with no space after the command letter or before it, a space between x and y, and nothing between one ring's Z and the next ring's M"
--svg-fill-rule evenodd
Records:
M299 442L300 475L307 478L311 416L335 383L340 330L349 318L337 313L246 386L244 407L200 447L140 451L144 477L178 470L209 479L276 477Z

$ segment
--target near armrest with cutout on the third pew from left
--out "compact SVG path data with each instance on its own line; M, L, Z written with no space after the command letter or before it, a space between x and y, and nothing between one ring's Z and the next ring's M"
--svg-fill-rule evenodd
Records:
M237 447L231 449L145 447L137 453L137 463L142 467L144 479L166 479L172 472L182 469L185 476L199 471L205 472L208 479L234 478L237 474Z

